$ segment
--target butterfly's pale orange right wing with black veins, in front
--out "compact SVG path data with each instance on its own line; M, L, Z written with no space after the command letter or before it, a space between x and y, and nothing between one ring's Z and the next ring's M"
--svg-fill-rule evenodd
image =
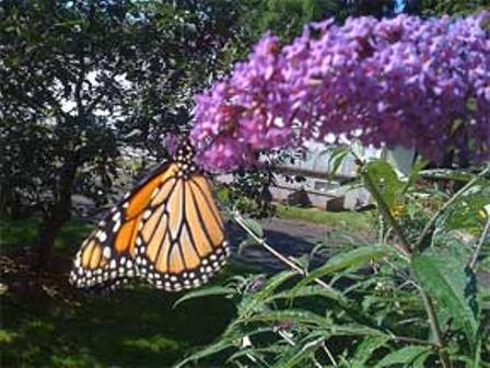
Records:
M230 252L206 177L177 175L162 185L136 242L139 273L158 288L179 291L207 283Z

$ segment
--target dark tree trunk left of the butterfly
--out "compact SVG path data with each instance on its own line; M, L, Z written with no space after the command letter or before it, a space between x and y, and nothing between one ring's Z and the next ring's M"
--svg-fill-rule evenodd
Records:
M49 269L55 239L61 227L71 218L71 195L77 174L78 164L69 162L61 171L55 197L57 200L49 206L43 223L39 227L37 239L37 265L39 268Z

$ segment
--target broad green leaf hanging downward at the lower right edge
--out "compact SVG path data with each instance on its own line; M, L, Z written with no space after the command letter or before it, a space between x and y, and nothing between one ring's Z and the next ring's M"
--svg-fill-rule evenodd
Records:
M435 300L438 315L451 315L453 325L463 329L471 345L478 331L475 274L462 260L440 253L413 256L417 280Z

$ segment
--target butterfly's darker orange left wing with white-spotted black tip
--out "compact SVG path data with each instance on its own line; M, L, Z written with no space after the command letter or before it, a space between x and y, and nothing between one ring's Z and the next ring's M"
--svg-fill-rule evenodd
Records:
M137 276L136 237L141 216L151 195L175 172L175 164L162 165L112 208L82 243L70 274L71 284L98 289L117 286Z

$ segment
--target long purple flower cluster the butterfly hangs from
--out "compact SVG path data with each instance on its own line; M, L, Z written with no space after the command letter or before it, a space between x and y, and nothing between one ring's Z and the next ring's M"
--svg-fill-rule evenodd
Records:
M435 161L450 150L487 159L489 22L488 12L328 20L285 46L266 34L248 60L197 96L198 160L230 170L260 151L340 136L416 148Z

